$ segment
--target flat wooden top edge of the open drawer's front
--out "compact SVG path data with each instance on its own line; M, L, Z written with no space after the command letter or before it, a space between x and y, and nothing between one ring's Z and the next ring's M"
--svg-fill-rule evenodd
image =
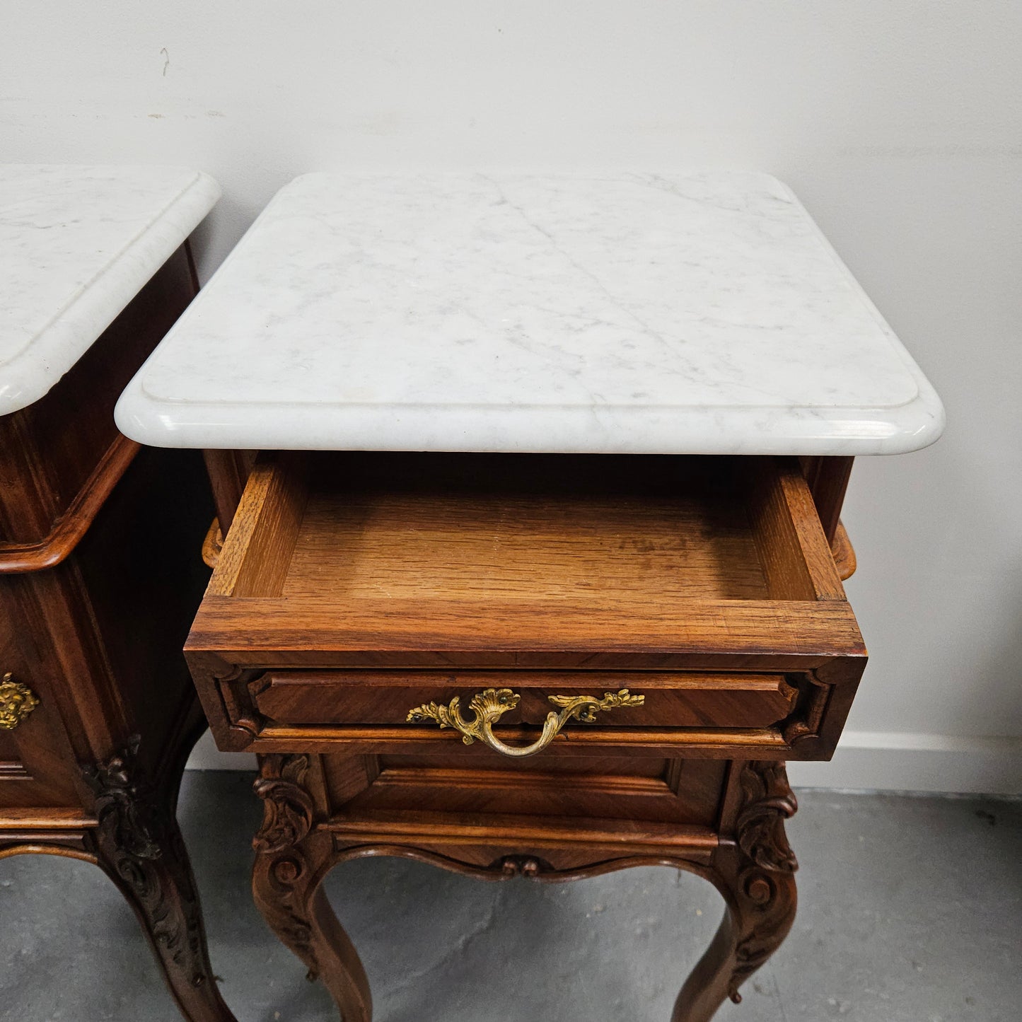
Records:
M483 619L467 617L455 601L436 600L430 605L429 620L418 624L415 615L421 614L422 604L417 600L345 607L343 616L328 594L295 603L207 592L185 649L216 651L245 666L440 669L456 665L712 668L718 665L714 654L730 656L721 662L730 669L760 665L804 669L834 656L866 655L854 614L844 600L676 601L650 608L648 619L633 622L631 631L622 628L620 614L606 603L592 607L558 602L557 626L549 633L535 605L523 610L513 603L493 603ZM573 630L565 623L571 620L576 622ZM571 631L580 638L572 649L565 649L564 633ZM240 636L244 637L241 649ZM615 664L615 653L631 658ZM641 663L635 659L639 653ZM387 654L393 654L392 662ZM736 656L748 659L740 663Z

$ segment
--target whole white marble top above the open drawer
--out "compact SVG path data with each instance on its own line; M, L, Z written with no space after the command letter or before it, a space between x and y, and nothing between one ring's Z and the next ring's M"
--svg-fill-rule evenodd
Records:
M171 447L878 454L943 411L791 192L312 174L129 385Z

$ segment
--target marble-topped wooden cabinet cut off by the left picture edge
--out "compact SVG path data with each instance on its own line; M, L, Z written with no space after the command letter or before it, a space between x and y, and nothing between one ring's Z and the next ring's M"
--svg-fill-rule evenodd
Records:
M0 168L0 858L98 865L194 1022L232 1022L175 820L203 727L180 653L207 572L196 452L113 406L196 291L219 195L168 168ZM74 897L67 924L75 921ZM17 1006L11 1006L16 1011Z

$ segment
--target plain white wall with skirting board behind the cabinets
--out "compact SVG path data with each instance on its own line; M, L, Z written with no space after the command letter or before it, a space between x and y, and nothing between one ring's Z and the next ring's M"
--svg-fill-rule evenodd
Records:
M0 158L211 172L226 194L200 230L206 276L309 170L719 166L786 180L949 421L935 448L855 468L848 592L873 660L845 751L793 777L1022 791L1022 5L16 6L0 33Z

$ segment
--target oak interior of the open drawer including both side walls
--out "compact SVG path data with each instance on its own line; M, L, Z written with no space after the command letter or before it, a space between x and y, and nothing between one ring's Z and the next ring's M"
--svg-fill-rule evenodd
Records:
M323 454L256 468L210 592L485 617L843 599L794 460Z

